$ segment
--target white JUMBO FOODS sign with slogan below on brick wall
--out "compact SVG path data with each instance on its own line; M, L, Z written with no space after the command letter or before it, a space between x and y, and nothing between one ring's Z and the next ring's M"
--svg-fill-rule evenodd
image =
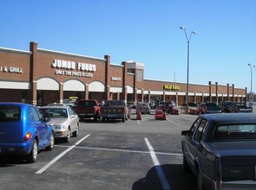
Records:
M69 60L54 60L51 66L56 68L56 75L92 78L93 73L96 71L95 64L81 63Z

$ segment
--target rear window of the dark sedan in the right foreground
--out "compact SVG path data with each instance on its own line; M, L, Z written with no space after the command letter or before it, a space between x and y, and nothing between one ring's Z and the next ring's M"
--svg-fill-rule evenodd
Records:
M216 141L235 139L256 140L256 123L220 125L213 135L213 140Z

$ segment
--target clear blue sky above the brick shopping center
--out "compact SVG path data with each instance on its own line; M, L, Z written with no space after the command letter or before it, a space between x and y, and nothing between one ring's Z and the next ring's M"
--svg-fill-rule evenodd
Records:
M0 47L38 48L145 64L145 79L234 84L250 91L255 0L2 0ZM1 61L1 60L0 60ZM253 92L256 68L253 69Z

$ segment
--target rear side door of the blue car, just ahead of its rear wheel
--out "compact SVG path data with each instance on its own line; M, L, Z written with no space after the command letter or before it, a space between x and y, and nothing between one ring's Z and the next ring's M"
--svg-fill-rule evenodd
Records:
M38 111L36 111L36 107L30 106L29 117L30 117L30 125L36 129L38 134L39 148L43 147L48 142L47 140L48 125L45 122L43 122Z

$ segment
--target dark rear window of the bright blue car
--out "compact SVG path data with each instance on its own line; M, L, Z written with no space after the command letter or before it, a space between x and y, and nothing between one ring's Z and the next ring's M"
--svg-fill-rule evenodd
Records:
M21 109L16 105L0 105L0 121L19 121Z

